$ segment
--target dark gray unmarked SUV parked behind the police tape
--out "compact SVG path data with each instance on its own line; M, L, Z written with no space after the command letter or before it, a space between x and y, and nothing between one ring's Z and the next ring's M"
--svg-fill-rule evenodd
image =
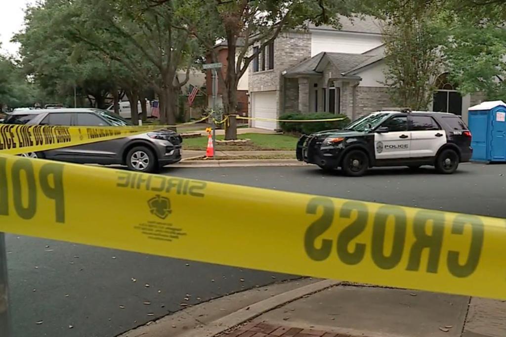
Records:
M79 127L128 127L130 121L100 109L64 108L12 112L4 123ZM156 172L181 160L180 135L170 130L148 132L110 141L66 147L24 156L82 164L121 164L132 171Z

